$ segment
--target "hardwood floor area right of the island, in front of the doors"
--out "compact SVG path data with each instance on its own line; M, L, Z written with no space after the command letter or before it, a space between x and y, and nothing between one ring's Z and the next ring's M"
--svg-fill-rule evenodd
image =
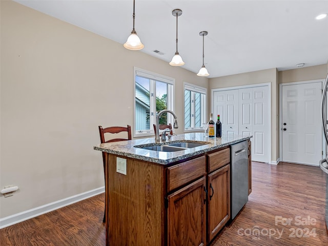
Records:
M252 162L249 201L212 245L328 245L325 175L319 167Z

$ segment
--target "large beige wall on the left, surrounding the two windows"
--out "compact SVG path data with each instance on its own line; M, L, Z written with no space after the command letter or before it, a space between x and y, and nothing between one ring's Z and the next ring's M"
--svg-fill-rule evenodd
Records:
M1 167L4 218L104 186L98 125L133 126L133 67L183 81L208 78L11 1L1 5Z

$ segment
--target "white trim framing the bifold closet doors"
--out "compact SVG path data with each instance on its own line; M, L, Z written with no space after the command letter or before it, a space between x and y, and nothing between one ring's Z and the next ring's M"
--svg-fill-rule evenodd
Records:
M234 87L224 87L224 88L216 88L211 90L211 112L213 112L214 108L214 92L217 91L228 91L228 90L236 90L236 89L244 89L244 88L254 88L254 87L261 87L261 86L268 86L268 95L269 95L269 101L268 101L268 111L269 114L269 126L268 130L270 131L269 137L268 137L268 163L270 164L276 164L276 160L272 160L271 158L271 135L272 135L272 129L271 129L271 83L261 83L261 84L253 84L253 85L245 85L245 86L234 86ZM252 140L252 139L251 139Z

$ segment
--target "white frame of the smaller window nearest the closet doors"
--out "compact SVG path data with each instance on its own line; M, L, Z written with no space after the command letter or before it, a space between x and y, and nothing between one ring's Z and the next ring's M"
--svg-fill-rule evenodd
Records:
M186 115L185 115L185 111L183 111L183 131L184 132L198 132L198 131L203 131L202 129L202 123L203 122L207 122L207 88L201 87L201 86L196 86L187 82L183 83L183 106L184 108L186 108L186 104L185 104L185 91L191 91L191 127L190 128L186 128ZM201 125L200 127L195 127L195 92L196 93L200 93L203 94L204 96L201 97Z

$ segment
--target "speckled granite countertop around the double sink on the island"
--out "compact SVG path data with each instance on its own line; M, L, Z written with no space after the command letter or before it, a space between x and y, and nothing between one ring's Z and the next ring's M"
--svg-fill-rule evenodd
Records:
M141 139L133 139L127 141L118 141L118 142L108 142L105 144L99 144L94 146L94 150L103 151L115 155L126 156L134 159L151 161L162 165L167 165L172 162L186 159L192 156L196 156L199 154L206 153L208 151L216 150L224 146L229 146L236 144L237 142L241 142L244 140L250 139L252 136L233 136L233 137L204 137L204 133L186 133L186 134L178 134L171 137L170 141L166 142L155 142L155 137L151 138L141 138ZM206 145L202 145L195 148L190 148L182 151L175 152L161 152L161 151L153 151L147 149L136 148L139 147L147 147L153 145L169 145L174 142L203 142L206 141Z

